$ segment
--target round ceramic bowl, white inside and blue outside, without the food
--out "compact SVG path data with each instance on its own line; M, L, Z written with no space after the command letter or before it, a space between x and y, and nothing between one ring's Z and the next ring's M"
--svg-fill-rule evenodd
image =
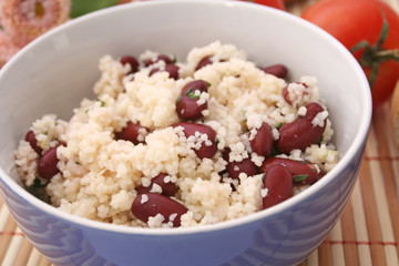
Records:
M147 229L63 213L14 180L13 151L45 113L72 115L99 78L103 54L176 53L215 40L259 63L284 63L290 79L318 78L339 164L301 194L216 225ZM366 78L332 37L284 11L238 1L151 1L73 20L39 38L0 71L0 191L18 225L57 265L290 265L326 237L350 196L371 116Z

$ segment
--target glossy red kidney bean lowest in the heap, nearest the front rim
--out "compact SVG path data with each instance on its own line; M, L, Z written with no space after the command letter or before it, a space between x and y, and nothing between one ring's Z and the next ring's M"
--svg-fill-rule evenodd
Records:
M143 198L144 197L144 198ZM143 221L149 222L150 217L162 214L165 218L163 223L172 222L171 215L176 215L173 219L173 227L181 226L181 217L188 209L181 203L156 193L140 194L132 204L133 215Z

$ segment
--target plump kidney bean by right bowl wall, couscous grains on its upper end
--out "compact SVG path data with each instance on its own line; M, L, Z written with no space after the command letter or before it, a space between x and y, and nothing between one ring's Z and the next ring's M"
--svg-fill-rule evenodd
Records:
M307 146L320 140L327 121L324 121L324 126L315 126L311 121L324 109L318 103L309 103L306 109L305 116L298 116L294 122L284 124L279 129L279 139L276 141L276 147L279 152L289 154L296 149L305 151Z

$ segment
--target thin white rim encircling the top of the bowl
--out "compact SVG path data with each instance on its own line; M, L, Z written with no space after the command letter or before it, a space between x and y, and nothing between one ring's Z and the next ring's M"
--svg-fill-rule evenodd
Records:
M94 11L89 14L84 14L82 17L75 18L69 22L65 22L64 24L61 24L43 35L37 38L31 43L27 44L24 48L21 49L12 59L6 63L2 71L0 71L0 80L4 75L6 72L12 65L17 60L21 57L24 57L27 52L29 52L31 47L34 47L39 44L41 41L44 41L52 35L62 32L65 28L73 27L74 24L84 23L85 21L90 21L93 18L96 17L105 17L108 14L117 13L121 10L125 9L140 9L142 7L150 7L150 6L162 6L162 4L212 4L217 6L221 8L235 8L235 9L247 9L247 10L260 10L264 9L265 12L272 12L275 13L275 16L284 17L286 20L290 20L295 23L301 24L301 27L307 28L309 31L314 31L316 34L320 34L323 38L328 39L328 41L334 45L337 50L339 50L341 53L344 53L347 58L348 63L351 63L355 73L356 79L358 79L358 83L364 86L365 89L368 89L369 91L369 84L367 81L366 75L364 74L362 69L356 61L356 59L351 55L351 53L332 35L324 31L323 29L318 28L317 25L303 20L299 17L296 17L291 13L288 13L283 10L250 3L250 2L242 2L242 1L228 1L228 0L162 0L162 1L143 1L143 2L132 2L132 3L125 3L116 7L106 8L103 10ZM350 144L347 152L344 154L344 156L340 158L338 164L329 172L327 173L324 178L305 190L304 192L299 193L298 195L277 204L270 208L249 214L239 218L235 218L232 221L224 221L216 224L211 225L198 225L193 227L178 227L178 228L144 228L144 227L130 227L125 225L115 225L115 224L108 224L103 222L98 221L91 221L89 218L79 217L72 214L69 214L66 212L63 212L61 209L58 209L53 207L52 205L42 202L41 200L37 198L32 194L30 194L28 191L25 191L22 186L20 186L9 174L6 173L6 171L0 167L0 178L3 181L6 187L11 191L12 193L17 194L20 198L28 202L28 204L33 205L35 208L39 208L40 211L44 212L48 215L51 215L53 217L57 217L57 219L63 219L65 223L72 223L78 225L79 227L88 227L92 229L100 229L100 231L108 231L113 233L120 233L120 234L133 234L133 235L151 235L151 236L167 236L167 235L185 235L185 234L198 234L204 232L213 232L213 231L219 231L219 229L228 229L231 227L238 227L238 226L245 226L252 223L260 223L263 219L267 217L272 217L278 213L284 212L285 209L294 207L299 202L305 202L307 198L309 198L311 195L316 194L317 191L321 190L323 187L327 186L329 183L331 183L335 177L339 175L340 172L342 172L351 162L351 158L355 157L355 155L362 149L369 126L371 123L371 94L370 93L364 93L362 98L359 99L362 102L364 106L364 113L361 116L361 123L359 125L359 129L356 133L356 137ZM10 192L10 193L11 193ZM4 202L7 203L7 198L4 198ZM12 209L10 209L12 213Z

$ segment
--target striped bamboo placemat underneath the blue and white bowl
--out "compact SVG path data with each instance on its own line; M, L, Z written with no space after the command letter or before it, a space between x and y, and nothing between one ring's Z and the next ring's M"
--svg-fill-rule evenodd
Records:
M316 0L288 7L299 16ZM399 0L386 0L399 12ZM399 85L399 82L398 82ZM374 111L358 181L328 237L300 265L399 265L399 145L393 141L390 103ZM11 217L0 196L2 266L48 266Z

